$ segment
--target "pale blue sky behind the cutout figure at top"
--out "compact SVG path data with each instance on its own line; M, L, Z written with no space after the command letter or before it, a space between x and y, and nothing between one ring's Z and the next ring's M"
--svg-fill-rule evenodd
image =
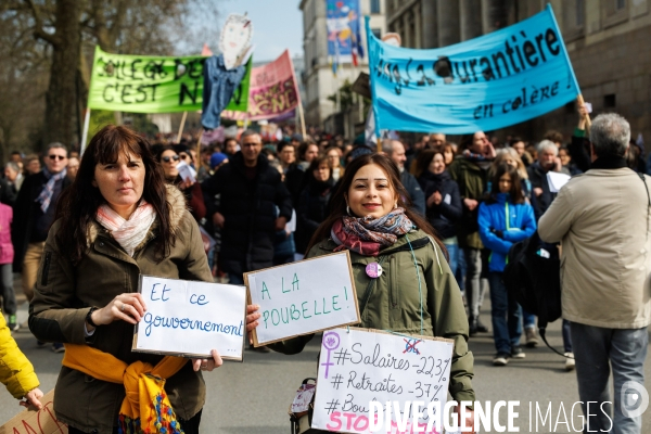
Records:
M299 0L219 0L217 26L231 13L248 13L253 22L254 61L272 61L285 49L303 56L303 15ZM218 41L207 41L217 51Z

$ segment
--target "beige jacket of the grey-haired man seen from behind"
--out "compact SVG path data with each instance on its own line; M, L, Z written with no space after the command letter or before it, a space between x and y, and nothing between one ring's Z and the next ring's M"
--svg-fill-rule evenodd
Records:
M609 329L649 326L649 197L637 174L591 169L572 178L538 232L546 242L562 242L564 319Z

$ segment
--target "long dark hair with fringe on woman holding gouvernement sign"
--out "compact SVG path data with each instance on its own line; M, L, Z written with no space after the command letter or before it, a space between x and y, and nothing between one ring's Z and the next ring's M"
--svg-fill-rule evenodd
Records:
M79 171L73 184L65 189L56 206L61 218L59 232L64 253L73 264L78 264L88 248L87 235L98 208L106 203L100 189L92 186L98 164L117 162L119 154L138 155L144 165L142 199L156 210L158 234L155 238L156 256L163 259L176 238L170 228L170 212L163 169L154 159L150 143L130 129L107 125L90 141L84 153Z

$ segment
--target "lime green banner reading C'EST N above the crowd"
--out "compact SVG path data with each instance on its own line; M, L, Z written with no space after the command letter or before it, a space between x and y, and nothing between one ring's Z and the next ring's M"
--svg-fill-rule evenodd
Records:
M112 54L95 47L88 107L129 113L201 110L206 58ZM228 110L246 112L252 59ZM246 95L246 97L243 97Z

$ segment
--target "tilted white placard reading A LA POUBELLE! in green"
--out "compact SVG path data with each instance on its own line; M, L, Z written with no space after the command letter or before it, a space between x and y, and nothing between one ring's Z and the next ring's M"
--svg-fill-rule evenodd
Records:
M255 346L359 323L348 251L247 272L244 282L260 306Z

